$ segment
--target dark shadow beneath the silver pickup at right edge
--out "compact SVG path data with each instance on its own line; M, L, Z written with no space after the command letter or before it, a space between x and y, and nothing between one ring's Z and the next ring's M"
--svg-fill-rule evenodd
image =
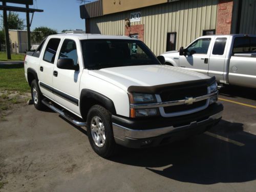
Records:
M238 86L225 86L220 89L220 95L232 98L242 97L246 99L256 100L256 89Z

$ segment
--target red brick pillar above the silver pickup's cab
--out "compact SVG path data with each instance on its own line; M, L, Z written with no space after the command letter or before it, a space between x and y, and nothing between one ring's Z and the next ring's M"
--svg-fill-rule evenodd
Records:
M233 1L219 0L217 12L216 34L230 34Z

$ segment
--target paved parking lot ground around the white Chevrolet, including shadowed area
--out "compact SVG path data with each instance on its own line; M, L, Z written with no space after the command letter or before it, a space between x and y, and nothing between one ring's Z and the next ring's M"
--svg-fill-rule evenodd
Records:
M0 191L255 191L256 90L219 98L223 119L205 134L109 160L80 127L24 106L0 122Z

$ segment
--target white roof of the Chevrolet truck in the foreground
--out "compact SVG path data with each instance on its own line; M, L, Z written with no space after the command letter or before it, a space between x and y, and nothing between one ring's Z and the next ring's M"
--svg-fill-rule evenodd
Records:
M124 35L101 35L101 34L56 34L56 35L49 35L49 37L71 37L71 38L78 38L82 39L127 39L127 40L138 40L137 38L132 38L129 36Z

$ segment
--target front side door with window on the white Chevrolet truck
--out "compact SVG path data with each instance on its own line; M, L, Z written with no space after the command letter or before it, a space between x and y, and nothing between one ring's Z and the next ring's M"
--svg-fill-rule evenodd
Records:
M75 66L79 66L79 69L59 69L55 65L53 87L55 89L55 100L60 105L79 115L79 82L83 67L82 62L78 61L77 52L80 51L80 47L77 45L79 45L79 41L76 42L73 39L63 40L57 59L73 59L73 62L68 63L68 65L73 65L74 63Z

